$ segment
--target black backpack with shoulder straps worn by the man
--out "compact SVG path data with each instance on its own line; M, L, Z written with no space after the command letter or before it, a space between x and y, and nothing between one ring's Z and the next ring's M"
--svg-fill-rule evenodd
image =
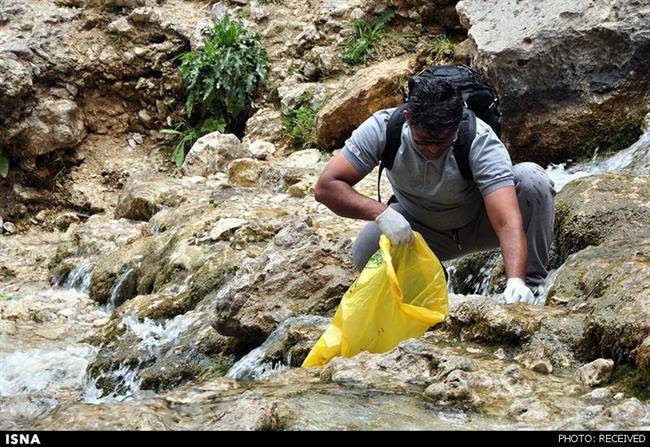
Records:
M469 151L476 135L476 117L478 116L486 122L500 136L501 111L499 110L499 98L494 90L481 81L478 73L466 67L453 65L429 67L419 75L409 79L409 91L421 78L444 79L460 89L466 107L463 110L463 119L460 122L458 138L454 143L453 152L463 178L472 180ZM408 98L406 101L408 103ZM395 109L386 126L386 147L381 155L379 176L377 178L377 200L380 202L379 183L381 182L381 173L384 168L389 171L393 168L395 156L402 142L402 126L405 121L402 112L406 106L407 104L402 104Z

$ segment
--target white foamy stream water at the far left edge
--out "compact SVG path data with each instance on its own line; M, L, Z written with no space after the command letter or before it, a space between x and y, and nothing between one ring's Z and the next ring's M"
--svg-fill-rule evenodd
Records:
M0 396L78 388L95 353L89 345L0 353Z

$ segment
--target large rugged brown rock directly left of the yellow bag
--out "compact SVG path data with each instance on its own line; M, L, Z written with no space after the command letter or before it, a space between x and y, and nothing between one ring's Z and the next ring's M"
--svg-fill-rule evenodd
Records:
M348 250L348 240L291 223L214 297L215 328L254 347L293 314L333 312L354 279Z

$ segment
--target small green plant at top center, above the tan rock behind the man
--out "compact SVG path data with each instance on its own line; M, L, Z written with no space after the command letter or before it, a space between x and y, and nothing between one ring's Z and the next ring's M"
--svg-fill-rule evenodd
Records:
M353 34L343 44L343 61L350 65L366 63L384 36L384 26L395 16L394 8L387 8L373 24L367 19L352 22Z

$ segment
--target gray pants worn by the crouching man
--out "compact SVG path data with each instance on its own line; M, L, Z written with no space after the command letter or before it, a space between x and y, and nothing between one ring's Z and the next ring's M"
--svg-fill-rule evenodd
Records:
M530 286L537 286L547 274L548 251L553 240L555 190L544 169L535 163L519 163L513 170L517 200L528 241L526 282ZM476 221L455 231L432 230L416 221L399 203L390 206L409 221L414 231L422 234L441 261L499 247L499 239L488 219L485 206ZM379 236L379 227L374 222L369 222L357 236L352 246L352 259L357 270L361 271L379 248Z

